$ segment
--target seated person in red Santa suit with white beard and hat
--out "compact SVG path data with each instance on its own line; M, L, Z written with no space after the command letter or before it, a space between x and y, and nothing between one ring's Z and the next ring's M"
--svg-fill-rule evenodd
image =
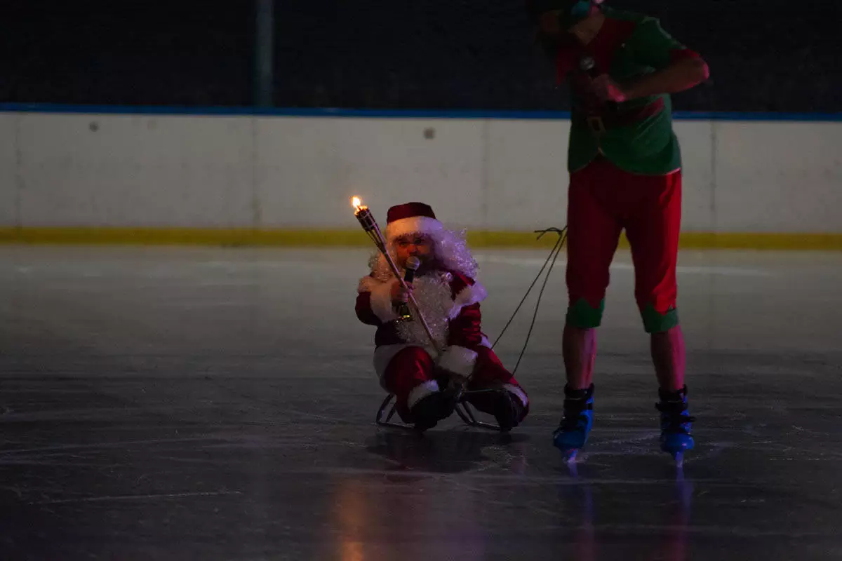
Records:
M376 325L374 366L381 386L395 394L398 415L424 431L456 406L456 388L468 403L493 415L501 431L523 421L529 399L491 350L482 333L480 302L488 293L476 280L477 262L464 236L448 230L424 203L399 204L386 216L386 246L405 274L407 260L420 265L410 285L418 307L443 352L434 347L416 319L398 314L407 294L380 252L370 259L371 273L360 279L356 314Z

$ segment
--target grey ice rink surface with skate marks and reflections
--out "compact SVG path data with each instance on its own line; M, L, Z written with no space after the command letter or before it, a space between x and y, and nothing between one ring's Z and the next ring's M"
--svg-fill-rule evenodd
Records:
M508 437L376 427L365 250L0 246L0 558L842 558L842 254L683 251L697 447L658 451L627 252L573 474L563 258ZM493 341L546 257L477 251ZM497 347L514 366L530 298Z

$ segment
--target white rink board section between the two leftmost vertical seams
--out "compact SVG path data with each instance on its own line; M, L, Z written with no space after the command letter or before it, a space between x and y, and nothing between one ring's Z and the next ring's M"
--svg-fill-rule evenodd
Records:
M249 119L24 114L24 226L248 225Z

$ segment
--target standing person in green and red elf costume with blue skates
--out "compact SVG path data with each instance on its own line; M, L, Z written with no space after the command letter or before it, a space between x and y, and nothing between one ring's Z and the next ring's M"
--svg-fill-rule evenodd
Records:
M621 231L632 247L635 297L651 334L661 447L694 446L687 410L685 344L676 309L681 155L670 93L708 77L706 62L657 19L603 7L602 0L526 0L536 42L567 80L569 305L562 352L567 374L553 443L584 447L593 423L596 328Z

